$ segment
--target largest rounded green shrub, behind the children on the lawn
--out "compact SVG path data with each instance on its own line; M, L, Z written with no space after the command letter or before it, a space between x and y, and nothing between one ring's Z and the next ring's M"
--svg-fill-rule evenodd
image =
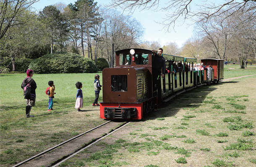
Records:
M94 61L75 53L57 52L31 61L29 68L36 73L93 73Z

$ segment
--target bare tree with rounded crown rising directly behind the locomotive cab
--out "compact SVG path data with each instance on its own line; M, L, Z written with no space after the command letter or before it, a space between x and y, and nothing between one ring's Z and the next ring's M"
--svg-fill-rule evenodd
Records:
M110 65L111 46L114 51L138 47L138 40L143 34L141 24L131 16L121 15L117 10L108 10L102 15L101 53L107 58Z

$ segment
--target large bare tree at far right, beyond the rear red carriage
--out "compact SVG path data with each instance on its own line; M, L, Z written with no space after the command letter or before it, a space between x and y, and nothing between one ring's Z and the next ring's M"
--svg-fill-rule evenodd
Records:
M233 8L227 13L219 10L218 17L199 19L197 26L204 39L203 45L207 51L214 51L208 54L209 58L238 60L240 67L244 68L247 57L255 55L256 18L253 15L255 11Z

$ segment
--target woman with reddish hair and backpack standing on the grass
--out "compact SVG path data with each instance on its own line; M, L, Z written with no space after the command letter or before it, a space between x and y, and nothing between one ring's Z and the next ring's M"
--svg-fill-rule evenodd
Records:
M30 110L32 106L35 106L36 101L36 89L37 83L31 77L34 74L33 70L28 69L26 71L27 77L21 83L21 88L24 91L24 99L26 99L26 117L34 117L34 115L30 115Z

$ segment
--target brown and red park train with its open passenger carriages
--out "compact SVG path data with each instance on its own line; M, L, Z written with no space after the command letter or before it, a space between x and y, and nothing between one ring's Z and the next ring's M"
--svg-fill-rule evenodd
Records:
M116 67L102 71L102 119L142 119L157 106L181 92L223 79L224 60L202 59L206 70L190 71L196 58L162 54L165 58L165 77L160 78L158 95L152 87L152 51L124 49L115 52ZM173 68L177 64L176 73ZM160 93L161 92L161 93Z

